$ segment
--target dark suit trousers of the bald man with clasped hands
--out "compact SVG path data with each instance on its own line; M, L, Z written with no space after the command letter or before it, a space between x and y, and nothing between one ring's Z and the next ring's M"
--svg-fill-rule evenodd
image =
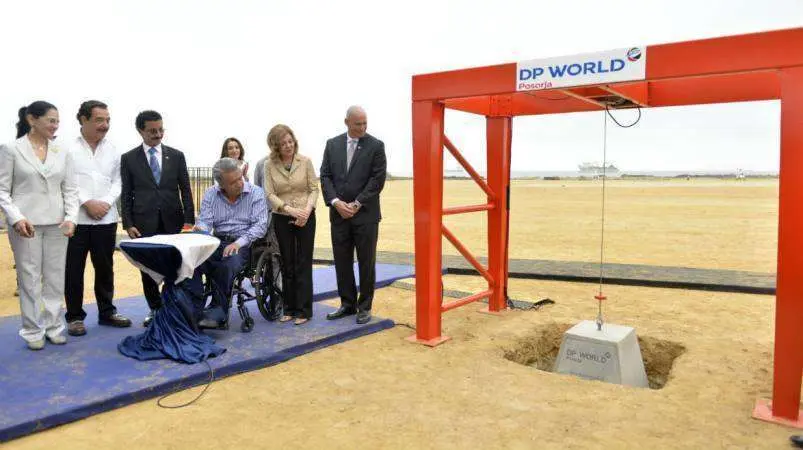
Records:
M332 252L337 273L337 293L344 308L370 311L376 282L376 242L379 223L355 225L350 220L332 223ZM360 266L360 293L354 283L354 249Z

